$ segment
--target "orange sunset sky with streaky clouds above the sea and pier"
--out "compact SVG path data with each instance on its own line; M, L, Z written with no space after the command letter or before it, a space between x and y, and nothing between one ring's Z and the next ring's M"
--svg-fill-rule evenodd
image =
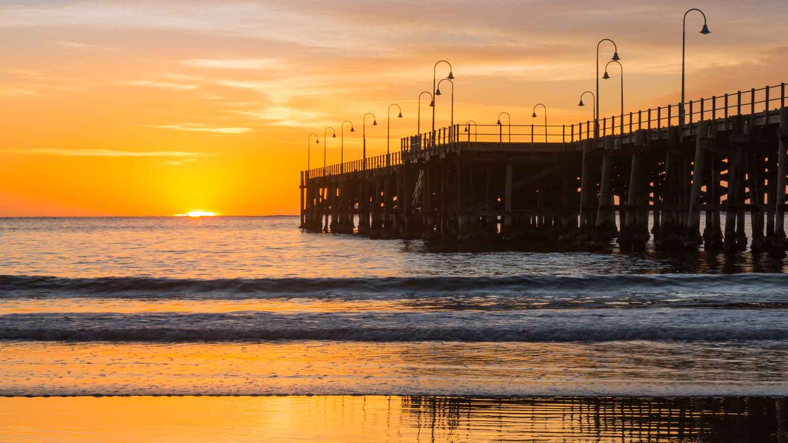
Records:
M0 216L297 214L308 134L322 165L323 128L349 119L345 159L359 158L374 112L368 154L385 153L398 102L399 149L441 58L457 77L455 122L505 110L530 124L536 102L550 124L587 120L578 95L593 91L604 37L618 43L626 110L678 102L689 7L712 34L688 16L687 99L788 80L784 0L159 3L0 6ZM600 84L603 115L618 110L618 75ZM329 164L339 146L329 139Z

